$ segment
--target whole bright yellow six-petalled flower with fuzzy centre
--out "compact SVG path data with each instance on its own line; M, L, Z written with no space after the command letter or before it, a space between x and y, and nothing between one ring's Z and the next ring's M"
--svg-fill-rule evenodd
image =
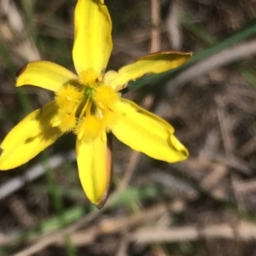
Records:
M105 68L112 51L112 23L103 0L79 0L74 14L73 62L77 74L49 61L20 69L16 86L55 92L55 99L20 121L0 146L0 170L31 160L68 131L77 136L79 178L88 199L101 207L108 196L111 157L107 135L157 160L177 162L189 153L165 120L120 97L126 84L148 73L182 65L189 53L146 55L118 72Z

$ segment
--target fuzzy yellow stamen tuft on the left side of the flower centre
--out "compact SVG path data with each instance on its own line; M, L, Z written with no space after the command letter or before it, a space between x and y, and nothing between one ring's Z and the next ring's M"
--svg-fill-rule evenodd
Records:
M65 84L55 93L55 102L58 108L72 113L78 108L79 102L83 97L83 91L78 90L72 84Z

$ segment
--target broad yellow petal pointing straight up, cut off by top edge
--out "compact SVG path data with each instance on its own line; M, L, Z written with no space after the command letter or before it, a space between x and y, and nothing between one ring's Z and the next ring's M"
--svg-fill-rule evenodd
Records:
M112 50L112 22L104 1L79 0L75 9L73 62L80 75L86 69L101 74Z

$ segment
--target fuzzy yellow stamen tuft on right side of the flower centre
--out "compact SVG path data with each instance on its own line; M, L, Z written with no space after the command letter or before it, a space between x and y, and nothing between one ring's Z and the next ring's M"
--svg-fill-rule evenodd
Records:
M98 108L113 111L115 103L119 101L119 94L110 86L102 85L96 88L93 101Z

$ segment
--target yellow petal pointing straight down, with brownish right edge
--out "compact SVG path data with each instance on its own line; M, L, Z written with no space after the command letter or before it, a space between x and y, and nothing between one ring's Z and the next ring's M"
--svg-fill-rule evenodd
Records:
M106 136L106 135L105 135ZM108 197L112 162L107 142L102 137L89 141L77 139L79 178L87 198L102 207Z

